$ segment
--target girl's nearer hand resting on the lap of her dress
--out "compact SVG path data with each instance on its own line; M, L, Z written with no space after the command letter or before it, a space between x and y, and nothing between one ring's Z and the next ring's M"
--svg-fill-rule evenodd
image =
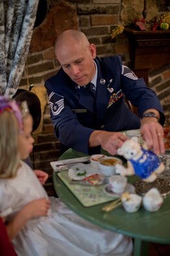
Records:
M47 198L40 198L30 201L27 203L21 211L23 212L23 216L30 220L32 218L38 218L41 216L47 216L50 208L50 201Z

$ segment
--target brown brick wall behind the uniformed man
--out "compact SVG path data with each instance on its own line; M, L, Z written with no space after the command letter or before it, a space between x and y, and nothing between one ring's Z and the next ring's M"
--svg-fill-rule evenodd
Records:
M29 84L42 85L47 78L58 71L60 66L55 59L53 45L56 36L66 29L80 29L84 32L90 42L96 44L99 57L120 54L123 63L130 65L126 36L122 34L114 40L110 38L112 29L121 23L121 0L48 0L47 3L47 15L32 34L20 88L28 88ZM169 81L169 64L149 72L149 86L155 90L162 102L168 125L170 124ZM58 159L60 142L53 134L49 106L45 109L43 118L43 131L35 136L32 160L34 157L35 168L45 170L51 175L49 162Z

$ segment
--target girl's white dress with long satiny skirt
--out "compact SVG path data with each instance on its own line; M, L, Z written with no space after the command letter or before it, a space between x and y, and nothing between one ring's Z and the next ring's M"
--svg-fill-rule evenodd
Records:
M21 161L17 177L0 180L0 215L12 220L25 204L47 197L34 172ZM29 220L12 240L19 256L131 255L129 237L87 222L58 198L50 200L49 216Z

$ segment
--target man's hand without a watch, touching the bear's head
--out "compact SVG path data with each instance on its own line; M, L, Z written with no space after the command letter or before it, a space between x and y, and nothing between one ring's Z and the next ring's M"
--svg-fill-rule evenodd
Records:
M91 133L89 146L95 147L101 145L101 147L108 151L110 155L115 155L117 153L117 149L121 147L125 140L128 140L128 137L123 133L94 131Z

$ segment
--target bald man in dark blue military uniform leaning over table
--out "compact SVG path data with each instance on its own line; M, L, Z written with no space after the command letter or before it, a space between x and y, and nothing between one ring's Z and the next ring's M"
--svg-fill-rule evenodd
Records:
M96 57L96 47L80 31L62 32L55 53L62 68L45 82L51 120L62 144L84 153L103 147L114 155L127 140L119 131L139 129L154 153L164 153L164 112L156 94L121 58ZM125 104L138 107L141 119Z

